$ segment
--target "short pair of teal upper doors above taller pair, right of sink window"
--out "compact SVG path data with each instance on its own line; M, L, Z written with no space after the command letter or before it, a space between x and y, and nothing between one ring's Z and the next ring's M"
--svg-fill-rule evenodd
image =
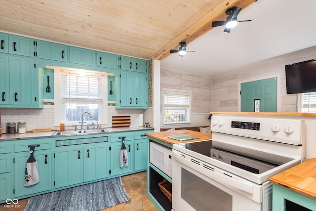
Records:
M120 56L120 69L147 73L148 62L143 59Z

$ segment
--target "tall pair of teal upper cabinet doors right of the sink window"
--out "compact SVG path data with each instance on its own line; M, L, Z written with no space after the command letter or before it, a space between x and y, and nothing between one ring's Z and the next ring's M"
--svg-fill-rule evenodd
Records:
M147 74L121 71L116 108L148 108Z

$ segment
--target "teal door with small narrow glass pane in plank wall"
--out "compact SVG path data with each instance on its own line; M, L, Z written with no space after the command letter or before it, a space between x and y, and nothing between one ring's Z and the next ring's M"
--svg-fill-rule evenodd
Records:
M241 84L241 111L276 112L277 79Z

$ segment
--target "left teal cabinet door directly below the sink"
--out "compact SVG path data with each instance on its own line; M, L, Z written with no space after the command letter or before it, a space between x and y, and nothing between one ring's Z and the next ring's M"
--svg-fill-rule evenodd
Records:
M55 151L55 188L83 182L83 148Z

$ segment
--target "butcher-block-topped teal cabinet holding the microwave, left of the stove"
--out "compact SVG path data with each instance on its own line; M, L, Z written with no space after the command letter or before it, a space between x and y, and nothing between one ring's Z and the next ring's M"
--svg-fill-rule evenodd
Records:
M150 199L150 201L155 205L155 207L158 209L158 211L170 211L172 208L171 201L162 193L160 190L158 183L162 182L163 179L167 180L168 182L172 183L172 178L170 173L167 174L165 172L165 168L172 169L171 166L168 166L171 163L171 149L173 144L179 144L179 143L188 143L188 142L194 142L194 141L203 141L203 140L210 140L212 138L212 134L209 133L203 133L203 132L197 132L187 129L181 129L181 130L169 130L169 131L163 131L163 132L150 132L145 133L147 135L148 140L148 167L147 167L147 197ZM191 138L197 137L196 139L187 140L187 141L179 141L172 138L169 138L170 136L190 136ZM153 151L151 149L150 143L154 142L155 144L161 145L162 148L166 149L166 153L169 151L168 155L163 155L164 157L162 160L167 160L165 162L162 162L164 164L161 164L162 167L158 167L158 165L154 165L154 161L151 162L151 152ZM157 146L157 145L156 145ZM155 147L155 146L152 146ZM160 148L160 147L159 147ZM167 156L167 157L166 157ZM167 166L163 168L163 166Z

